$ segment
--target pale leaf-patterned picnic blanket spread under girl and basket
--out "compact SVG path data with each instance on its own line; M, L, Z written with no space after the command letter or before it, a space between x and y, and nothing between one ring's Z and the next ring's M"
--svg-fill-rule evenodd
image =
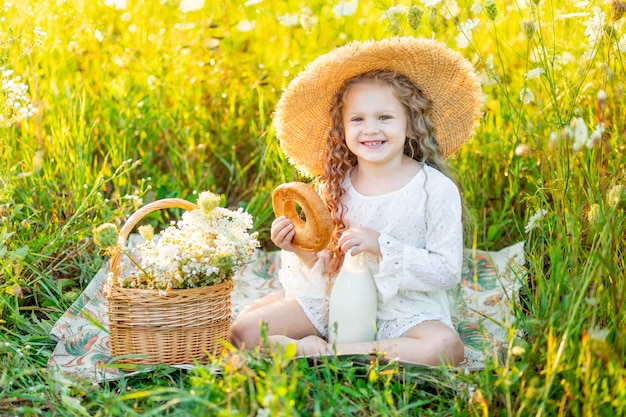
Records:
M141 239L129 236L128 248L132 250ZM486 361L498 360L505 351L514 328L513 307L525 278L524 263L524 242L492 252L465 250L461 283L448 291L452 322L465 344L461 367L482 369ZM233 317L253 300L280 289L279 267L278 251L255 253L251 265L234 278ZM50 332L57 345L48 367L60 378L75 375L99 383L131 374L115 367L111 356L108 304L102 292L108 270L107 263Z

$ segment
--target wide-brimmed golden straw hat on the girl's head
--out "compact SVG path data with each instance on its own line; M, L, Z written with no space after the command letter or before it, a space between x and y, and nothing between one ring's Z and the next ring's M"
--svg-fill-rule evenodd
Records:
M332 99L345 79L373 70L403 74L431 100L431 120L444 157L471 135L483 94L472 65L441 42L413 37L352 42L311 62L278 101L276 135L303 174L324 172Z

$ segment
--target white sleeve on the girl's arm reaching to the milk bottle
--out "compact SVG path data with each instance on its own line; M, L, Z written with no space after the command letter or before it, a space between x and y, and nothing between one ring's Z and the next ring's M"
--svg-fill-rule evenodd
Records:
M461 199L456 186L437 183L428 189L425 245L415 247L381 234L382 252L375 279L383 299L399 290L441 291L460 282L463 262Z

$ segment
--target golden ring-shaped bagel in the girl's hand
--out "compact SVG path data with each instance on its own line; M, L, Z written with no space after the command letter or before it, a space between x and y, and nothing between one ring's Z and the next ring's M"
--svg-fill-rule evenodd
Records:
M302 208L305 220L296 210L296 203ZM319 252L328 245L335 226L326 203L313 187L303 182L281 184L272 192L272 205L276 217L286 216L293 223L293 246Z

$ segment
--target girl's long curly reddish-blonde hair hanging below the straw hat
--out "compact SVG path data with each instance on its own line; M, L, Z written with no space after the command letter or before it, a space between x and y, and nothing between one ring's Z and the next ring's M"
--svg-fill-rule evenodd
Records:
M339 272L343 263L344 253L339 247L339 237L347 228L344 222L344 213L347 207L343 204L346 190L344 181L350 170L357 165L356 156L348 149L345 141L343 126L343 109L350 89L366 82L383 82L393 88L394 93L407 113L406 142L404 153L427 164L449 177L461 191L458 176L446 162L435 136L435 128L428 116L431 102L422 94L422 91L410 79L394 71L377 70L348 78L341 89L335 94L330 110L332 127L326 141L327 160L324 174L318 179L322 197L326 202L335 230L328 249L331 258L328 265L328 274L332 278ZM464 220L468 217L463 206Z

